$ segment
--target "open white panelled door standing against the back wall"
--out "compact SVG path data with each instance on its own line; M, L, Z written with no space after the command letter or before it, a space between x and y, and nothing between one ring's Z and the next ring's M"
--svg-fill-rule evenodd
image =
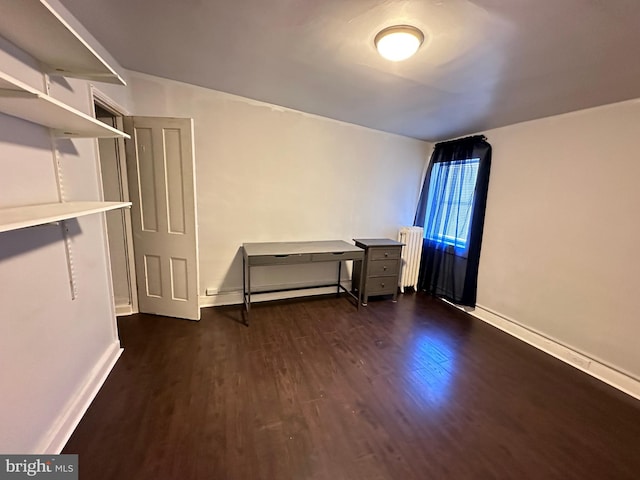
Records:
M140 312L200 319L193 120L128 117Z

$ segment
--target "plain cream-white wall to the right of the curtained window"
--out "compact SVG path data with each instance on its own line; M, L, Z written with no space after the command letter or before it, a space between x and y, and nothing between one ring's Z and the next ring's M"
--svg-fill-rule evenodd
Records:
M479 307L640 379L640 100L484 133Z

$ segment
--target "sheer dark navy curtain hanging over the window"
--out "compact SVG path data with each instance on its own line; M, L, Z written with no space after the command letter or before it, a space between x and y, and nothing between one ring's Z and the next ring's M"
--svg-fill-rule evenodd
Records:
M471 161L473 159L478 161ZM469 175L475 175L470 168L477 171L475 187L468 182ZM436 144L414 221L414 225L425 229L419 290L458 305L475 307L490 169L491 145L483 135ZM433 190L431 202L430 186ZM465 186L467 189L474 188L471 205L461 201L465 197L461 189ZM466 194L471 201L470 193ZM442 198L443 195L447 198ZM458 225L468 208L471 208L470 223L468 226ZM460 212L461 215L456 215ZM447 235L446 241L442 241L443 231L453 232ZM468 232L468 236L463 240L457 239L455 232L463 231Z

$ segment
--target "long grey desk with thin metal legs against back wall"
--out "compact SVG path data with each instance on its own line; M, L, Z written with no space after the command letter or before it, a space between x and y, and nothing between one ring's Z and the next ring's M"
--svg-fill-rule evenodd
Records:
M266 242L244 243L242 245L242 298L248 314L251 310L251 268L275 265L292 265L299 263L338 262L338 280L328 285L314 285L311 287L294 287L277 290L261 290L254 293L273 293L289 290L302 290L304 288L336 287L336 293L344 290L357 301L360 308L360 292L354 295L340 284L343 261L362 260L364 250L343 240L325 240L317 242ZM362 265L363 262L360 262ZM360 275L359 278L362 278Z

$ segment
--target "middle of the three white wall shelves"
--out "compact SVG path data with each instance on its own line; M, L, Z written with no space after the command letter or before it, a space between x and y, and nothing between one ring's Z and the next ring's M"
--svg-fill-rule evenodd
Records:
M130 138L3 72L0 72L0 112L49 127L57 137Z

